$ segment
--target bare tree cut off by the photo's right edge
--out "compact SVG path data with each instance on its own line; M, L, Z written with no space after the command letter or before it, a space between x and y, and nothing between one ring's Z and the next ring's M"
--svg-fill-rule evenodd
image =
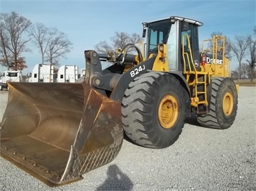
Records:
M254 34L256 35L255 29L254 29ZM250 66L250 70L251 70L251 81L253 80L254 77L254 72L255 72L255 65L256 65L256 40L252 39L251 36L249 36L249 43L248 43L248 47L249 47L249 56L250 59L246 60L249 63Z

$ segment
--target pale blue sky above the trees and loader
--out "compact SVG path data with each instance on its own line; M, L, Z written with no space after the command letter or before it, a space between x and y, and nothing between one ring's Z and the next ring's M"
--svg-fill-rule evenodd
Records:
M255 24L255 0L0 0L0 12L15 11L32 23L56 27L67 34L73 43L67 59L60 65L85 68L84 50L94 50L96 44L110 38L115 32L142 35L142 22L180 16L203 22L199 29L200 42L213 32L222 32L231 40L236 35L252 34ZM32 72L41 56L34 44L27 44L32 52L23 53L26 65L22 72ZM236 57L231 69L237 67ZM0 68L0 72L5 70Z

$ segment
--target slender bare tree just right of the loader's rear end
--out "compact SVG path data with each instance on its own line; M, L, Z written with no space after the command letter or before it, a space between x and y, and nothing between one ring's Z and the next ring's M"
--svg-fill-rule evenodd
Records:
M248 48L249 45L249 37L245 36L236 36L234 38L233 43L231 43L231 50L233 53L236 55L237 60L239 62L239 71L238 71L238 81L240 79L240 67L242 63L243 57L246 55L246 49Z

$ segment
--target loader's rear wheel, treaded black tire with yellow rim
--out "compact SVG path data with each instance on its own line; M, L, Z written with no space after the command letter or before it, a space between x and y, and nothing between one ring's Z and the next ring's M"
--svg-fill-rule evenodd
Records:
M234 81L225 77L212 78L210 111L207 114L198 115L197 121L206 128L230 128L236 119L237 104Z

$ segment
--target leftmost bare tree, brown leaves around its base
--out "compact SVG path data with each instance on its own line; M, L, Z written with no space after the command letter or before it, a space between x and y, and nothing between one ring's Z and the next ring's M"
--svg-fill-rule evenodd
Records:
M0 26L2 65L7 66L7 69L26 68L25 58L21 57L20 54L29 51L25 44L31 39L23 39L22 36L31 26L30 20L15 12L0 13Z

